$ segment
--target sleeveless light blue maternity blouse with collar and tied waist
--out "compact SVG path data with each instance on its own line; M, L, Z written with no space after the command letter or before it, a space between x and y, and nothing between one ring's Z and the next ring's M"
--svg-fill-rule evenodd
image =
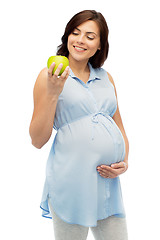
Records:
M50 198L63 221L93 227L111 215L125 217L119 177L103 178L96 169L123 161L125 142L112 119L117 100L107 72L89 68L86 84L71 71L59 95L40 207L52 218Z

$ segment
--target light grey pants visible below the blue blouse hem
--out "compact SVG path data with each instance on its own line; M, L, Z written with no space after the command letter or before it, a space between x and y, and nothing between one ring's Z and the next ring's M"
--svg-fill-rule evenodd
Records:
M50 205L50 204L49 204ZM55 240L86 240L89 227L70 224L60 219L53 211L53 227ZM115 216L98 220L96 227L90 227L95 240L127 240L127 226L125 218Z

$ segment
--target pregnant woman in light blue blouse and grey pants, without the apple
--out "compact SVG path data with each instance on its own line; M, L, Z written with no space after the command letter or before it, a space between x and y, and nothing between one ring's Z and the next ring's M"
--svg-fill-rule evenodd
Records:
M44 68L34 87L32 144L51 147L41 201L53 219L56 240L126 240L127 227L119 175L128 168L128 139L115 84L102 65L109 50L101 13L85 10L68 22L57 55L69 59Z

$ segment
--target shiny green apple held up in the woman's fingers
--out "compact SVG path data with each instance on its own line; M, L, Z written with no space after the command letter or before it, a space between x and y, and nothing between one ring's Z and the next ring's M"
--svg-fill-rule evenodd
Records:
M59 73L59 76L64 72L65 68L67 66L69 66L69 60L67 57L64 57L64 56L61 56L61 55L57 55L57 56L51 56L48 58L48 61L47 61L47 67L49 68L51 66L51 64L55 62L55 67L53 69L53 74L54 72L56 71L57 67L59 66L60 63L63 64L63 67Z

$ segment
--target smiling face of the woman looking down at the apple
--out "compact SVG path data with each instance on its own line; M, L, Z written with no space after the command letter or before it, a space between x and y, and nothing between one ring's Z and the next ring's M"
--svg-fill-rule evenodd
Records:
M87 61L100 49L100 31L96 22L86 21L68 36L69 60Z

